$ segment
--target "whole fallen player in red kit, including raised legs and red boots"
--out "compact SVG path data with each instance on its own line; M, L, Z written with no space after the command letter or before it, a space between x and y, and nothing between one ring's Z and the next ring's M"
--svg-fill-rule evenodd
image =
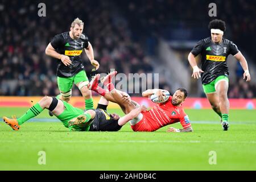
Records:
M110 73L113 77L117 72ZM139 105L130 101L129 99L124 99L123 95L114 88L111 80L112 77L105 77L102 80L102 83L108 88L108 91L112 94L115 102L122 107L125 114L130 113ZM108 79L107 79L108 78ZM106 90L98 86L98 80L100 75L96 75L93 80L88 84L88 88L105 96ZM142 93L143 97L150 97L152 94L157 94L161 100L164 97L164 90L161 89L148 89ZM166 102L155 105L150 110L142 109L141 113L137 117L134 117L130 121L131 128L134 131L155 131L160 129L163 126L170 125L176 122L180 122L183 126L183 129L175 129L174 127L169 127L168 132L189 132L192 131L191 123L189 121L188 115L185 114L182 103L187 97L187 90L179 88L176 90L174 95ZM140 108L140 107L139 107ZM138 110L137 110L138 111Z

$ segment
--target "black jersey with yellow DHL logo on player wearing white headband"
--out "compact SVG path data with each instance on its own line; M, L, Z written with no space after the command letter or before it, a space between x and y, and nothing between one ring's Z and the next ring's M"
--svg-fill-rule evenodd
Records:
M200 40L191 53L195 56L201 53L201 69L204 71L201 74L202 83L208 84L220 75L228 76L228 55L234 56L238 52L236 44L228 39L223 38L220 44L214 43L210 37Z

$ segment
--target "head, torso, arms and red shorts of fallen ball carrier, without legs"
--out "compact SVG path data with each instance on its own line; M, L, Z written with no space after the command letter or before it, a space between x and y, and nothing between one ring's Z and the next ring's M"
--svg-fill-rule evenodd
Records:
M161 89L149 89L143 92L142 96L148 97L156 93L161 99L164 95L163 91ZM180 122L183 129L170 127L167 131L192 131L188 115L185 114L182 107L186 97L187 90L183 88L177 89L174 96L170 96L166 102L156 104L148 111L142 111L137 118L131 120L131 128L134 131L155 131L166 125Z

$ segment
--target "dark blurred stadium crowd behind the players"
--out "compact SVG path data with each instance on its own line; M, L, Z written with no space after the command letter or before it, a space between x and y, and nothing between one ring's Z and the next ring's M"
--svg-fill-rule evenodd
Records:
M40 2L46 3L46 17L38 16ZM156 52L160 39L170 43L170 49L179 55L182 64L192 73L187 56L198 40L210 36L208 23L215 18L208 16L210 2L3 0L0 2L0 95L59 94L55 75L57 61L46 56L44 51L53 36L69 31L71 22L77 17L84 21L84 34L89 37L94 57L100 63L98 71L91 72L92 65L85 53L82 54L89 80L95 73L108 73L110 69L126 75L154 73L160 64ZM249 62L249 69L255 69L255 2L215 3L216 18L225 20L227 24L225 38L236 43ZM185 46L179 43L185 43ZM229 98L256 97L255 81L243 81L240 64L235 68L235 75L230 80ZM168 77L161 74L159 88L174 89ZM197 90L190 96L205 97L201 88ZM76 87L72 94L80 96Z

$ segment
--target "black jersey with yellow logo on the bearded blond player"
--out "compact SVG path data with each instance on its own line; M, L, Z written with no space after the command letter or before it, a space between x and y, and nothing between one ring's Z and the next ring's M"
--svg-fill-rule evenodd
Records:
M69 32L55 35L51 40L51 45L55 50L62 54L69 56L72 64L65 66L61 60L57 66L57 76L59 77L72 77L76 73L84 69L82 64L81 53L84 48L88 48L88 37L84 34L79 39L72 39Z

